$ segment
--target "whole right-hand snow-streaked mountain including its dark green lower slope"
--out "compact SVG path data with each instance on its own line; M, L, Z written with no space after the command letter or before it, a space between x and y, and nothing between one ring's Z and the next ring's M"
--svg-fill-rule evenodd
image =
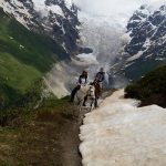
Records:
M166 63L166 6L159 9L142 6L127 23L128 43L112 74L138 79ZM117 71L117 72L115 72Z

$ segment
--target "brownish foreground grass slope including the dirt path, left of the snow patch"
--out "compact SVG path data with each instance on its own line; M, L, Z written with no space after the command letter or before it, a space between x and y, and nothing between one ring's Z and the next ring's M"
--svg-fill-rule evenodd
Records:
M0 129L0 165L80 166L79 112L68 101L49 98L35 112L6 122Z

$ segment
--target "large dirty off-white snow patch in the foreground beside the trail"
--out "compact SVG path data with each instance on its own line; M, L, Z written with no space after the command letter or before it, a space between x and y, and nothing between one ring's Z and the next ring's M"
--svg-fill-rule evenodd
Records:
M85 115L80 151L83 166L165 166L166 110L137 107L123 90Z

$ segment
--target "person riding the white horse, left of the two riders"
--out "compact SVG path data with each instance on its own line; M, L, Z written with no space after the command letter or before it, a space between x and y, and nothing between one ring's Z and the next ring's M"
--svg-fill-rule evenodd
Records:
M75 96L76 92L81 89L81 85L86 85L87 83L89 83L87 71L83 71L82 74L79 76L79 81L76 83L77 84L76 87L74 87L74 90L71 93L70 102L74 101L74 96Z

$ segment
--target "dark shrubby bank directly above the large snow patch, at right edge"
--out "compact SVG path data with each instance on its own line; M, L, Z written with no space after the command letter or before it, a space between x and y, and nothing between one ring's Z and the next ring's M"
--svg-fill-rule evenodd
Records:
M159 96L159 98L166 100L166 66L162 66L146 74L142 80L128 85L125 92L126 97L134 97L142 101L152 96ZM155 98L155 101L157 102L157 98Z

